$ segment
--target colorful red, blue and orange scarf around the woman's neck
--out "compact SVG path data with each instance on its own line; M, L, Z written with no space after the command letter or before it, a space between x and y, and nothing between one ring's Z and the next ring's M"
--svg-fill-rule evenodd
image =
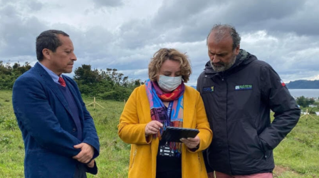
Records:
M184 90L185 86L182 82L171 93L163 93L157 82L152 82L148 79L145 83L147 98L150 103L150 112L152 120L161 122L163 128L160 132L153 135L153 137L159 137L161 140L162 132L166 130L166 127L183 127L183 112L184 112ZM162 101L169 102L169 106L166 110ZM169 143L172 150L181 152L181 143Z

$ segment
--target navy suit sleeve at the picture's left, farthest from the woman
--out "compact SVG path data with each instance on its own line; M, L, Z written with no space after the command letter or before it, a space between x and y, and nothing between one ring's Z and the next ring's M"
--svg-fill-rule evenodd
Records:
M34 78L19 78L14 83L12 103L21 131L26 130L42 147L59 155L73 157L80 140L61 128L43 86Z

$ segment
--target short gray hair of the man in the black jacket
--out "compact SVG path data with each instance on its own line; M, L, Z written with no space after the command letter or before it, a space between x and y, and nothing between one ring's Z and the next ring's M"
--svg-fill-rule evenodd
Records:
M237 33L236 28L234 26L228 24L215 24L211 31L209 31L208 36L206 38L206 44L208 42L209 35L214 31L215 40L221 41L226 35L230 35L233 39L233 50L239 46L241 43L241 36Z

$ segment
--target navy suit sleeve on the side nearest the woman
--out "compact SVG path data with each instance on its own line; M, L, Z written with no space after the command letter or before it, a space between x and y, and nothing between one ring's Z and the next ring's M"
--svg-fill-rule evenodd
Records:
M78 89L78 85L75 83L74 80L70 78L68 79L70 80L70 83L72 83L73 87L75 88L75 93L78 96L77 98L80 101L80 104L83 110L83 116L84 116L83 142L94 147L94 155L92 159L95 159L95 157L98 157L98 155L100 155L100 142L98 140L98 133L96 132L93 118L90 115L90 112L88 112L88 110L85 107L85 103L83 102L83 99L80 95L80 90Z

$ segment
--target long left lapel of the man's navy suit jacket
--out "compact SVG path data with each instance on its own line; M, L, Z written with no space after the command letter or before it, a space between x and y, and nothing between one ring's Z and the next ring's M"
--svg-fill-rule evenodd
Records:
M56 98L58 98L58 100L60 100L60 102L62 103L63 107L66 108L66 110L73 117L72 112L70 110L70 107L68 105L68 102L66 101L66 98L64 97L64 95L61 92L60 88L58 88L58 85L52 80L51 76L48 75L46 70L44 70L44 68L38 63L36 63L36 65L34 65L34 68L36 68L36 70L40 74L41 79L44 81L44 83L46 83L48 88L50 88L53 91L53 93L56 95Z

